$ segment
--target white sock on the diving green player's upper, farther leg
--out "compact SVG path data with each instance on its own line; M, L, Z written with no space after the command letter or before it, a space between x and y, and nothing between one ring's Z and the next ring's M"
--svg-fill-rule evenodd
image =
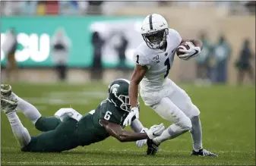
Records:
M14 94L15 95L15 94ZM19 108L26 117L30 119L33 124L42 116L35 106L31 105L29 102L21 99L19 96L15 95L18 101L17 108Z

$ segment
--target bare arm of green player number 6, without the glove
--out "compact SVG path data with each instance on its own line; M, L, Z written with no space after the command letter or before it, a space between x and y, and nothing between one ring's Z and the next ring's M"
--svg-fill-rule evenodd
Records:
M125 131L122 130L122 127L119 124L114 124L104 119L100 120L100 124L105 127L106 132L109 133L110 136L115 137L120 142L132 142L148 138L147 133L134 133L131 131Z

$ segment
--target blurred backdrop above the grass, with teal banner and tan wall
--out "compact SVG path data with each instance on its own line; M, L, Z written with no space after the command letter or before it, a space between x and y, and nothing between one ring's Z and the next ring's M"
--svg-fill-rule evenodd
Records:
M235 84L239 74L235 63L245 39L250 41L252 54L255 52L255 2L24 1L1 2L1 12L1 65L2 69L7 66L8 46L4 43L8 30L14 29L18 81L56 82L55 68L64 68L68 82L90 82L94 77L109 82L130 76L133 49L143 41L141 20L152 12L163 14L169 27L185 39L205 36L201 57L192 61L175 58L170 77L176 82L201 81L207 73L211 82ZM66 38L52 43L59 31ZM223 45L219 44L221 36ZM64 55L54 54L58 44L65 47ZM254 70L254 58L250 64ZM91 72L94 77L90 77ZM2 80L5 75L2 70ZM251 83L248 78L245 82Z

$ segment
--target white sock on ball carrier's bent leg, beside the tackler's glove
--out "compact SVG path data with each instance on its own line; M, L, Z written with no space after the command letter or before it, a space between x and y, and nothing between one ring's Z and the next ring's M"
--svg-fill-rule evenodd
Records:
M161 136L157 136L153 139L153 142L156 144L163 143L167 139L174 139L175 137L181 135L182 133L187 132L188 130L184 127L179 126L178 124L172 124L166 130L163 131Z

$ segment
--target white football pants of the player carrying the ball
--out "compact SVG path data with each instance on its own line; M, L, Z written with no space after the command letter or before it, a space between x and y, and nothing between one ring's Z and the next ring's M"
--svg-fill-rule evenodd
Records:
M141 98L145 105L150 106L160 117L184 128L191 128L191 117L200 114L188 94L169 79L158 91L141 89Z

